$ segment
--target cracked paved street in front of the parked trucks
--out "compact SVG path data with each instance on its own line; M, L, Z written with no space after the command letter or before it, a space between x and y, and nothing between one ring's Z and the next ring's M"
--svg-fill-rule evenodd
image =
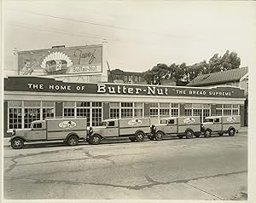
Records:
M247 131L161 142L4 147L4 198L247 200Z

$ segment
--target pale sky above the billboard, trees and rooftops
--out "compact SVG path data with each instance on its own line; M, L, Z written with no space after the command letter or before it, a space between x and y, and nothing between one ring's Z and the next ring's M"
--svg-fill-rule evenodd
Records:
M5 71L14 49L108 41L111 69L144 72L158 63L187 65L235 51L253 67L255 3L249 1L3 1Z

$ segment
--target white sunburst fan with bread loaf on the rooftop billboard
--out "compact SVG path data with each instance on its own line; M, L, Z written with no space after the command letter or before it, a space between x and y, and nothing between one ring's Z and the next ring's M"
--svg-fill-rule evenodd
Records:
M67 68L71 66L73 66L71 59L60 51L47 55L41 64L46 74L64 74L67 72Z

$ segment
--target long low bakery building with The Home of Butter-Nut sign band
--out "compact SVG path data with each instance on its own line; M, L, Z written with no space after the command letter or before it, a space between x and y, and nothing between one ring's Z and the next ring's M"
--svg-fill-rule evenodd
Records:
M244 90L239 87L179 87L148 84L74 83L56 78L4 78L4 132L26 129L33 120L102 119L197 115L244 115ZM221 108L219 108L221 105ZM242 119L241 119L242 120ZM243 125L243 124L242 124Z

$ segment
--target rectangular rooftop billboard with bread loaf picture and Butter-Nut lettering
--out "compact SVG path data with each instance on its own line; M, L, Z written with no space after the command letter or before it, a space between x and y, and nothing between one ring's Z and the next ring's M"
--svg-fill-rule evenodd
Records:
M102 45L18 52L20 75L102 73Z

